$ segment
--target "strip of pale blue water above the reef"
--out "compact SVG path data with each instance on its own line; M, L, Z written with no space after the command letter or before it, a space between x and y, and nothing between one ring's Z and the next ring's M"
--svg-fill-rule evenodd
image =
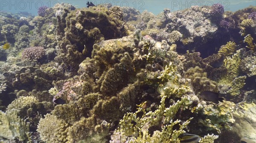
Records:
M256 0L91 0L94 4L111 3L112 6L134 7L140 12L147 10L159 14L164 8L177 11L191 6L212 6L221 3L225 11L237 11L248 6L256 6ZM0 11L17 13L27 11L37 15L41 6L53 7L56 3L70 3L76 8L86 7L87 0L1 0Z

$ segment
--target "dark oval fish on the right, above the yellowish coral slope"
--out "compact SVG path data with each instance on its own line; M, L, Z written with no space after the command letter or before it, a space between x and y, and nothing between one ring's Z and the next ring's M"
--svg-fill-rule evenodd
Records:
M201 98L203 98L206 101L212 101L215 104L218 104L219 101L223 101L223 97L219 97L219 93L215 93L212 91L204 91L200 93L199 95Z

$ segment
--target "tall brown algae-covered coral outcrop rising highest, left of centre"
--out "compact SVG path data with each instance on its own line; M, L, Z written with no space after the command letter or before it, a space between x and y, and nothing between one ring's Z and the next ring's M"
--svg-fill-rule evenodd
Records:
M63 16L58 16L57 19L57 34L63 39L58 43L60 52L56 60L64 63L65 68L73 72L78 70L79 63L85 56L90 56L93 44L102 39L125 35L124 22L116 19L108 9L101 6L82 8L78 11L64 10Z

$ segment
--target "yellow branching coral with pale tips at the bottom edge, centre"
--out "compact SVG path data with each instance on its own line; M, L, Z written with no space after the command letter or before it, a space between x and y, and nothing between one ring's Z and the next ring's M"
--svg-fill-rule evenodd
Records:
M173 116L176 114L180 107L188 107L191 101L187 97L181 98L174 105L169 108L165 108L166 95L161 95L162 99L160 101L160 106L154 112L145 112L143 109L143 104L138 106L138 110L135 113L127 113L124 118L120 121L120 127L115 132L121 133L121 140L125 140L127 136L132 136L133 139L127 140L128 143L173 143L179 142L178 136L185 133L183 130L189 124L192 118L189 118L184 123L180 123L180 120L173 121ZM143 112L141 118L137 118L137 114ZM162 119L164 126L162 130L155 131L153 135L150 135L148 129L151 126L159 126ZM135 124L134 124L135 122ZM180 125L180 129L173 130L172 127L176 124Z

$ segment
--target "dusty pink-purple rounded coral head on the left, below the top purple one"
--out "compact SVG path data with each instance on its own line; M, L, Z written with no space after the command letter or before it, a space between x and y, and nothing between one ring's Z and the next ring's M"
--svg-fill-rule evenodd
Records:
M25 48L22 52L22 59L41 59L45 55L45 50L43 47L29 47Z

